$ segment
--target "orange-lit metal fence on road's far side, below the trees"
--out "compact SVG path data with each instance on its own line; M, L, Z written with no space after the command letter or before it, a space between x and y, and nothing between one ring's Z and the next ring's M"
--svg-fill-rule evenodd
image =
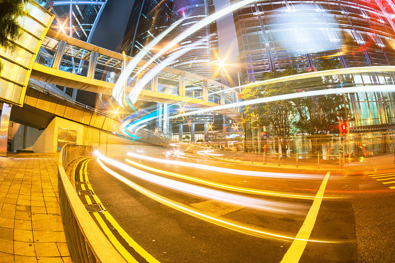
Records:
M245 153L232 151L215 151L216 154L222 154L221 158L227 158L243 162L259 164L276 164L312 166L312 167L338 167L343 166L343 159L340 155L307 155L307 154L281 154L281 153Z

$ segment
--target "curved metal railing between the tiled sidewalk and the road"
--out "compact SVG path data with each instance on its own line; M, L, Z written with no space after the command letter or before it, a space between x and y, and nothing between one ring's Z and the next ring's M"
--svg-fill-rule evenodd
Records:
M59 203L67 247L73 262L126 263L80 201L65 172L77 158L91 156L92 146L66 144L59 156Z

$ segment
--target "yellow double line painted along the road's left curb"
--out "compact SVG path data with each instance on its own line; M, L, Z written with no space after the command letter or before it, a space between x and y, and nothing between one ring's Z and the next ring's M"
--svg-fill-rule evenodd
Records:
M82 190L92 190L92 187L88 183L88 173L87 173L87 167L89 161L91 161L92 158L89 158L85 161L83 161L80 169L79 169L79 178L81 182L85 182L86 186L88 189L85 188L84 184L81 184L81 189ZM88 196L84 196L88 204L92 204L92 200ZM96 195L92 195L93 199L95 200L96 203L100 203L100 199ZM102 207L104 208L103 204L101 204ZM110 215L108 211L103 211L101 212L105 218L110 222L110 224L114 227L115 230L118 231L119 235L126 241L126 243L133 248L138 254L140 254L141 257L143 257L148 263L159 263L157 259L155 259L153 256L151 256L147 251L145 251L139 244L136 243L126 232L123 230L117 223L117 221ZM110 239L111 243L114 245L114 247L119 251L119 253L122 255L122 257L127 261L127 262L136 262L136 259L134 259L130 253L122 246L122 244L118 241L117 237L111 232L111 230L108 228L107 224L104 222L104 220L101 218L98 212L93 212L92 213L99 223L100 227L104 231L104 233L107 235L107 237Z

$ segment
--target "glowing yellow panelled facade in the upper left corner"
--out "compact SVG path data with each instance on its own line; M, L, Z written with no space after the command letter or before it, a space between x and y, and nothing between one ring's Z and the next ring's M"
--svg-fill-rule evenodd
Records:
M35 1L28 1L26 13L19 17L21 36L14 41L13 50L0 48L0 99L22 105L30 72L41 41L44 38L54 16Z

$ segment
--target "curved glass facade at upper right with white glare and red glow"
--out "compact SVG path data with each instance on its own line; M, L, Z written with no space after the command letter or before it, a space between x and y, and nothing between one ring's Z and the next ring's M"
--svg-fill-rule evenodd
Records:
M236 2L236 0L232 0ZM234 12L241 79L286 67L315 70L325 59L340 67L395 65L392 0L269 0ZM391 73L356 74L354 84L393 84ZM352 126L394 123L394 94L349 95Z

